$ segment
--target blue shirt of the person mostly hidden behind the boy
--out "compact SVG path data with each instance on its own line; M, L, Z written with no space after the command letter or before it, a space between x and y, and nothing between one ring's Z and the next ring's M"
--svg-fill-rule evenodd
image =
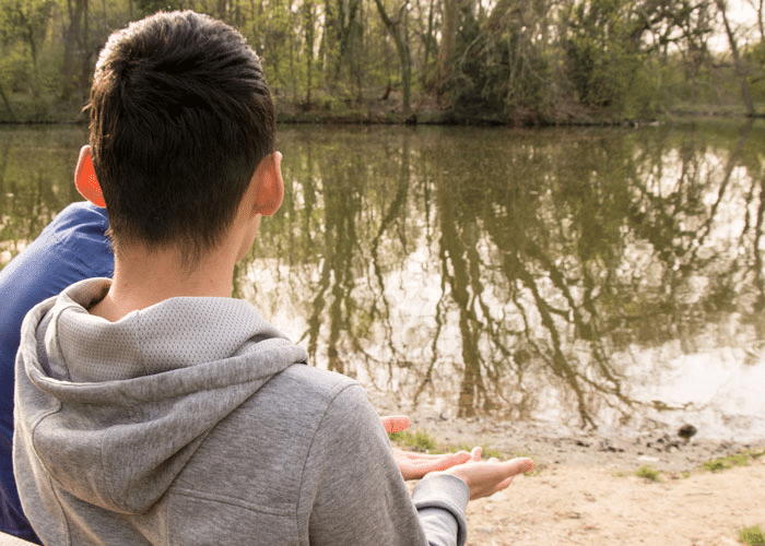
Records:
M39 543L13 477L13 369L26 312L83 278L111 276L106 210L73 203L0 271L0 531Z

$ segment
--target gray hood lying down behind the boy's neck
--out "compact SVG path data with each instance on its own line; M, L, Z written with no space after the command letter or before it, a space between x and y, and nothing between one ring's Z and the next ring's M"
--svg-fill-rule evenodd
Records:
M91 316L109 285L82 281L27 314L15 418L27 456L61 488L138 513L221 419L307 355L232 298L172 298L117 322Z

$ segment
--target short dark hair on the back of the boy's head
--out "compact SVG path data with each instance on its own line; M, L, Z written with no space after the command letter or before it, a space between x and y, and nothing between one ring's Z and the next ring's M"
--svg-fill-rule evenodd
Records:
M192 11L114 33L86 108L116 251L121 241L176 246L191 266L220 241L274 150L258 56L237 31Z

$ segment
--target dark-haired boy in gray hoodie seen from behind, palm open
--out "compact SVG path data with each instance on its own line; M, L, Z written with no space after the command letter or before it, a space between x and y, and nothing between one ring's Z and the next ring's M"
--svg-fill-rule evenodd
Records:
M468 499L531 462L476 450L410 497L364 390L228 297L283 195L244 38L193 12L131 24L90 116L78 185L106 205L114 278L32 309L16 358L14 471L44 544L464 544Z

